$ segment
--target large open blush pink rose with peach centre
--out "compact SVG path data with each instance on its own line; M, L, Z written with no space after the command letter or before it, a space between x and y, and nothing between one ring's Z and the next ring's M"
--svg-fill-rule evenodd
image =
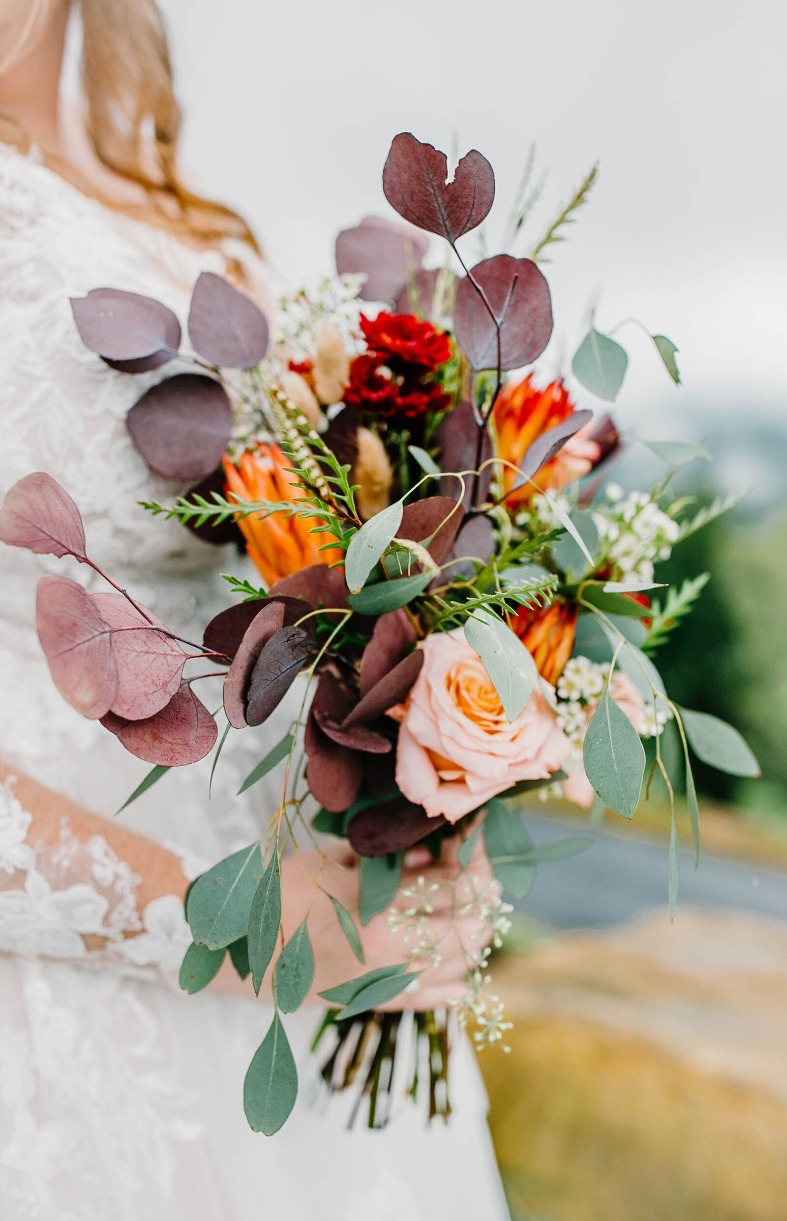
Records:
M419 648L421 673L389 716L401 723L397 784L431 818L455 823L517 780L547 780L565 763L571 744L538 687L509 722L461 628Z

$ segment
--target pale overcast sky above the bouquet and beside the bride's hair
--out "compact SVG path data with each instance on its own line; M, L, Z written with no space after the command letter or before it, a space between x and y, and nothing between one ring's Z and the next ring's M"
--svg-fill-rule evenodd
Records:
M491 253L531 142L548 170L531 239L598 158L594 195L544 269L555 304L544 371L567 366L595 304L600 330L636 315L681 349L675 389L636 327L619 335L623 425L692 436L716 410L787 420L783 4L162 7L184 164L245 212L287 278L329 267L339 228L390 214L379 179L397 132L445 151L456 133L460 153L491 160ZM472 258L475 238L464 242Z

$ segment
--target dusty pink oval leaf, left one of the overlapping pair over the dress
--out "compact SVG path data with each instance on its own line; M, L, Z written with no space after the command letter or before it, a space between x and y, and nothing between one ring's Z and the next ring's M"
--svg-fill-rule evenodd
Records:
M117 695L110 625L81 585L67 576L38 582L35 626L55 686L72 708L98 720Z

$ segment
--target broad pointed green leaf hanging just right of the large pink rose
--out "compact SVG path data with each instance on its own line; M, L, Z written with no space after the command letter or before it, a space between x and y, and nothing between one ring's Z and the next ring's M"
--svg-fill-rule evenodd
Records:
M586 775L602 801L615 813L631 818L639 802L645 752L609 687L587 728L582 757Z

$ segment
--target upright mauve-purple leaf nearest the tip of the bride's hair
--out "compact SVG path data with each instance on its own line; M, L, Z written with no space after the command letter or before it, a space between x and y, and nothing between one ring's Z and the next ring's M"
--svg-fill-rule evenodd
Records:
M200 357L225 369L251 369L267 352L265 315L244 293L204 271L192 295L189 338Z

